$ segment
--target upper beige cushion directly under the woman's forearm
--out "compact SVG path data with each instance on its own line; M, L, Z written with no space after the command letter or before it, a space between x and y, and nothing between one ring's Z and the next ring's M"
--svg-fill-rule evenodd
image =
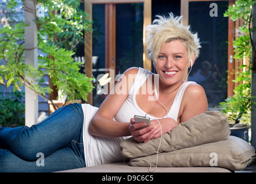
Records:
M181 122L172 131L165 133L159 153L225 140L229 135L228 120L224 114L218 111L205 112L187 122ZM160 139L152 139L145 144L131 137L120 143L121 153L128 158L156 154Z

